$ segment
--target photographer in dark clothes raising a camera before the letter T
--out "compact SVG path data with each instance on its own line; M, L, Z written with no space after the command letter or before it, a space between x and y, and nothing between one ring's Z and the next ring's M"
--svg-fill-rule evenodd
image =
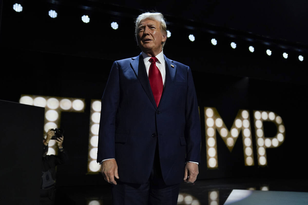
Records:
M62 133L61 133L62 135ZM43 140L42 178L40 187L40 204L53 204L55 200L56 166L67 161L68 157L63 149L63 135L59 136L55 130L49 129ZM58 145L58 155L47 155L48 143L54 137Z

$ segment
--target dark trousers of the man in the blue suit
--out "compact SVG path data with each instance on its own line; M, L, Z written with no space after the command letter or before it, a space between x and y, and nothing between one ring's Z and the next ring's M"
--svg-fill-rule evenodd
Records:
M180 184L167 186L160 169L158 144L150 178L145 184L117 181L112 185L113 205L176 205Z

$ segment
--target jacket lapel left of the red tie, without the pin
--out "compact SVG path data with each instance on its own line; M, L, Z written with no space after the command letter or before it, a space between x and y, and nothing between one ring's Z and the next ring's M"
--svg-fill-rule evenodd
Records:
M137 78L139 79L145 93L147 93L148 98L152 102L155 109L157 109L156 102L152 93L149 77L147 74L147 70L145 69L143 57L140 53L139 56L132 58L131 67L135 71Z

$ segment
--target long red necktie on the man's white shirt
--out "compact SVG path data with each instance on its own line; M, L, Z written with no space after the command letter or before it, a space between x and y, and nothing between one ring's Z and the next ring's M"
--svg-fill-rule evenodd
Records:
M161 73L156 66L156 61L158 61L158 59L156 57L151 57L149 61L151 62L149 69L149 81L156 105L158 107L161 94L163 93L163 78L161 77Z

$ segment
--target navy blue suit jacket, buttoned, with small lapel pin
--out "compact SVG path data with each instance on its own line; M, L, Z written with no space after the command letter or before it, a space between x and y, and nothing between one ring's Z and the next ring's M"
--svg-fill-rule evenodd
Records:
M183 181L186 161L200 162L201 127L191 70L164 59L166 80L158 107L141 54L112 65L102 97L97 161L115 158L120 181L148 181L157 137L167 185Z

